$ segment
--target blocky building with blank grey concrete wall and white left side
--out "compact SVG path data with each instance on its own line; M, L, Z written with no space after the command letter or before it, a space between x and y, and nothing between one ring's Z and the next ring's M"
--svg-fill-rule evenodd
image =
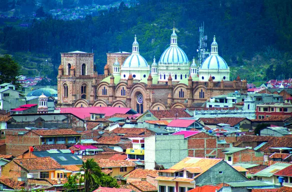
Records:
M169 168L188 156L184 135L153 135L145 137L144 142L146 169L153 169L156 164Z

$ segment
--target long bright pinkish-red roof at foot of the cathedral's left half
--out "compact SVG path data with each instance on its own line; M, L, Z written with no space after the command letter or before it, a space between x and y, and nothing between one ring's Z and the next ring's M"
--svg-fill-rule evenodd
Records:
M115 113L125 114L131 110L131 108L123 107L103 107L103 106L92 106L92 107L62 107L60 108L61 113L70 112L79 118L85 118L90 116L90 113L102 113L105 116L111 116Z

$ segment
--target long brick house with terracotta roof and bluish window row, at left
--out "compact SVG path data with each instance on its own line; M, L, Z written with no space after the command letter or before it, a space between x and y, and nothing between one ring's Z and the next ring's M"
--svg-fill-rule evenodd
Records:
M6 129L7 153L22 154L28 146L40 144L75 144L81 134L72 129L39 129L28 131L24 129Z

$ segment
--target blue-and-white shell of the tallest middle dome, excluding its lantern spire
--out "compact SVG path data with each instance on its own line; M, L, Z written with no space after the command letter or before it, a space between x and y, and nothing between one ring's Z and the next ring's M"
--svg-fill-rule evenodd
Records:
M160 63L187 63L188 57L178 46L170 46L162 53Z

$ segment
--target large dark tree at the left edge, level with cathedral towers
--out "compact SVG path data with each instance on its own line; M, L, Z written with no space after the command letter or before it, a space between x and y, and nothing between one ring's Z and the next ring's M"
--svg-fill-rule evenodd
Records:
M17 76L19 75L20 66L8 54L0 57L0 83L11 82L16 83Z

